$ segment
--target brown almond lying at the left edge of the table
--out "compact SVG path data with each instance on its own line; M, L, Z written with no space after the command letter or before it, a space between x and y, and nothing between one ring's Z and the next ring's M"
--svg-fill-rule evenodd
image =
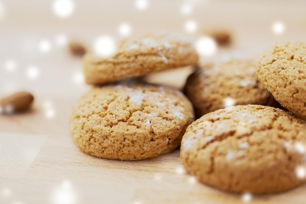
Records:
M0 113L17 113L28 110L34 101L34 96L25 91L16 92L0 100Z

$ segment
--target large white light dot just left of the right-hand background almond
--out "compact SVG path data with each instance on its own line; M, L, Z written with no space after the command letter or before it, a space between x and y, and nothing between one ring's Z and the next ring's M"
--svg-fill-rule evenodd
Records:
M217 43L210 37L201 37L196 41L196 49L201 56L212 56L217 51Z

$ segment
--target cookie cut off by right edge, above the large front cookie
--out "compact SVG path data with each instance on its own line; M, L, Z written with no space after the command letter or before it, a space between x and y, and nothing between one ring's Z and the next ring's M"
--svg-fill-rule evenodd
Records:
M306 43L277 43L263 55L257 75L276 101L306 120Z

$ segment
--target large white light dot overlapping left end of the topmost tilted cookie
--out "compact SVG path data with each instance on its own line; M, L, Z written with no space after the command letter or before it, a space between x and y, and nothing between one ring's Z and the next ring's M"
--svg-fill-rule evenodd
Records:
M110 36L101 36L94 41L94 51L97 55L108 57L116 50L115 41Z

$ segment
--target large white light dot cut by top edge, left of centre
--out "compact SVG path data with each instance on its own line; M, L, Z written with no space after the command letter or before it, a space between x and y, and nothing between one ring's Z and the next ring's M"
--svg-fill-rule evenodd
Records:
M52 8L56 16L66 18L73 13L74 2L72 0L54 0Z

